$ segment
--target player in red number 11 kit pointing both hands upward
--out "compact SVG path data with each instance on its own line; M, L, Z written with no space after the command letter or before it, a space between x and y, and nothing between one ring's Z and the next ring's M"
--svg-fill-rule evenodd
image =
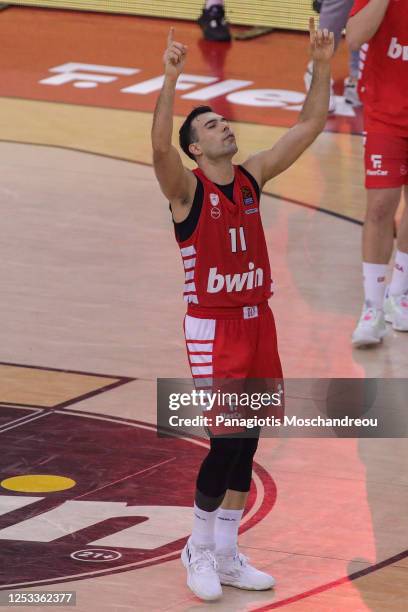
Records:
M182 150L198 166L190 171L172 145L175 88L187 48L170 31L153 119L153 161L183 259L184 331L197 386L212 377L282 378L259 200L265 183L293 164L325 126L334 40L328 31L315 31L313 19L310 48L313 82L296 125L271 149L234 165L238 149L228 121L208 106L195 108L179 132ZM212 436L200 468L182 561L188 586L203 600L218 599L221 584L252 590L274 585L237 549L257 443Z

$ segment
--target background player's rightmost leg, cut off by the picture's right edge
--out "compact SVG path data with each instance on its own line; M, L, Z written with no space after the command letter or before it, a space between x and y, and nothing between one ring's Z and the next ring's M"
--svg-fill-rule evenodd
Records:
M408 184L404 187L404 198L405 208L398 228L394 269L384 303L386 321L392 323L396 331L408 331Z

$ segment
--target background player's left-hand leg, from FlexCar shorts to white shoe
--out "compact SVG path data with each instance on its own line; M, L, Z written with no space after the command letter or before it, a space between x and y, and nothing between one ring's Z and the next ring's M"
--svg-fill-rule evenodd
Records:
M379 344L385 333L384 294L394 244L394 217L400 197L403 139L367 135L367 209L363 227L364 305L352 335L356 348Z

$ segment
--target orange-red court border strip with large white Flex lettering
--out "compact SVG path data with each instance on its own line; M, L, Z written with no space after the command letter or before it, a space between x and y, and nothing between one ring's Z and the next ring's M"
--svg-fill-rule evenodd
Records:
M301 109L308 35L276 31L214 45L194 22L62 10L0 14L0 96L151 112L161 86L170 23L189 47L176 114L210 104L228 119L290 126ZM335 93L348 73L344 41L333 62ZM22 78L24 74L24 78ZM327 129L358 133L361 111L340 104Z

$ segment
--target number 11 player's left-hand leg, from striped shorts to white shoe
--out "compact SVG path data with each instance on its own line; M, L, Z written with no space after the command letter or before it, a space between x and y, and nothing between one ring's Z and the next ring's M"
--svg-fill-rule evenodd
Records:
M242 320L199 319L187 315L184 330L197 387L211 390L214 379L218 382L245 378L250 347L242 334ZM183 550L182 561L187 569L188 586L206 600L217 599L222 594L215 571L215 519L241 444L240 438L213 435L197 477L193 530Z

